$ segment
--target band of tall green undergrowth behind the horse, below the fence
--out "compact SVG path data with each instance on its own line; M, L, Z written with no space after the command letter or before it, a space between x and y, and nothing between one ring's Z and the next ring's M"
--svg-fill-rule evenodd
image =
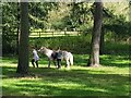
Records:
M44 37L31 38L29 46L40 48L41 46L50 49L68 50L73 53L87 54L91 51L91 35L86 36L63 36L63 37ZM107 33L105 35L105 53L106 54L129 54L129 47L127 40L116 41L114 35Z

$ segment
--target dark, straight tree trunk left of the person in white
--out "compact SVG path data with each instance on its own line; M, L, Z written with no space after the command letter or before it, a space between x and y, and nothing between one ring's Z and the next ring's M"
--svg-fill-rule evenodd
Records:
M16 73L28 73L28 3L21 2L21 32Z

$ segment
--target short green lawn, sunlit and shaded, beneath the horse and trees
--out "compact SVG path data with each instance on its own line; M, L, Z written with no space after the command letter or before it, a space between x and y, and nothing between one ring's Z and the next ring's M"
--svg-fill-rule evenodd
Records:
M129 60L128 56L100 57L100 68L87 68L87 54L74 54L71 70L53 65L47 69L43 57L39 68L29 72L33 76L19 77L16 58L2 58L2 94L4 96L128 96ZM63 62L64 64L64 62Z

